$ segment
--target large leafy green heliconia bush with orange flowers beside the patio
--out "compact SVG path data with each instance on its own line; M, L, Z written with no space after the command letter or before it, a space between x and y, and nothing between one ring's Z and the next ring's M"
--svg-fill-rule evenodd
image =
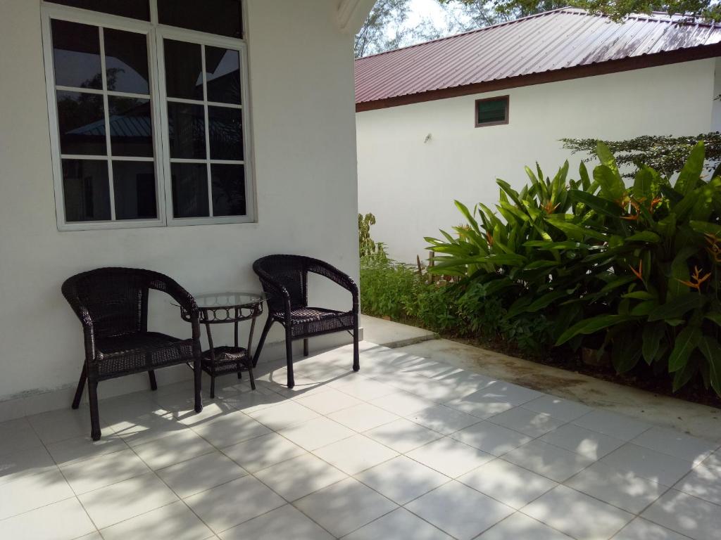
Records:
M547 346L610 353L618 372L639 361L671 374L673 390L695 377L721 395L721 177L702 178L699 143L669 179L640 166L624 183L611 152L589 176L554 179L526 168L520 192L498 180L496 212L456 206L468 225L426 238L430 271L484 284L505 318L547 320Z

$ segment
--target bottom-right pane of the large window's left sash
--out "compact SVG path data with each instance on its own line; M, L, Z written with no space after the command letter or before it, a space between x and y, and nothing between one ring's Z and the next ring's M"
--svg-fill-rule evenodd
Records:
M113 161L112 188L115 192L115 219L147 220L158 217L155 164L152 161Z

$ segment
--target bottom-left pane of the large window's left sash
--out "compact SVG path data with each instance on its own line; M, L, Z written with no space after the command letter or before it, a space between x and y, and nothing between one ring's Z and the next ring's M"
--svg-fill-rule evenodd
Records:
M65 220L110 220L107 161L63 159Z

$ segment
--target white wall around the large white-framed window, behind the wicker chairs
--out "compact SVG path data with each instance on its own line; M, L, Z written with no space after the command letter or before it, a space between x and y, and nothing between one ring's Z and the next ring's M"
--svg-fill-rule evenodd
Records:
M77 272L138 266L169 274L190 292L260 289L251 269L256 258L302 253L357 277L352 36L337 29L335 0L247 4L258 222L61 233L40 2L0 0L0 417L23 412L17 405L3 413L1 402L58 388L67 393L76 384L81 327L60 287ZM154 329L189 335L175 310L151 300ZM314 300L350 306L350 295L332 287L320 287ZM278 327L269 341L282 338ZM159 384L190 373L172 371L158 372ZM148 384L144 374L126 379L99 390ZM35 408L51 401L38 399Z

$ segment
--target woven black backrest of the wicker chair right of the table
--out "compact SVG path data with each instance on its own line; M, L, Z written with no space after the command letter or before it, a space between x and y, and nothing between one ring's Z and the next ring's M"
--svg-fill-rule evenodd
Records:
M270 311L285 309L284 299L268 284L267 278L286 287L291 296L291 308L308 305L308 272L306 258L299 255L269 255L253 263L253 270L260 278L263 290L268 297Z

